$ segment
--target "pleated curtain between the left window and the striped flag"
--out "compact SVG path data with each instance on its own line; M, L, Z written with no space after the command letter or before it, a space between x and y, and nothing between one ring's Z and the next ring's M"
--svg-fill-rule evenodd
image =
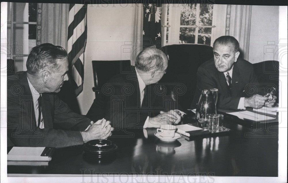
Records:
M38 3L36 44L51 43L67 50L69 4Z

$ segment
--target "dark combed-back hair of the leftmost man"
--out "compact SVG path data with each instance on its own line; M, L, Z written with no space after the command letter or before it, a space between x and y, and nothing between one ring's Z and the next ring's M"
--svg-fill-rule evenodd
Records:
M27 72L35 75L42 69L55 70L58 68L57 61L66 57L68 57L68 54L61 46L54 46L50 43L35 46L28 55Z

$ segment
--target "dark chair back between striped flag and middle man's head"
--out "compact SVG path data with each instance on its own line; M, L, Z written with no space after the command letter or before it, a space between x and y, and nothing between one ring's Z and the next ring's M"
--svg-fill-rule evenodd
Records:
M131 70L130 60L122 61L92 61L95 98L102 86L113 76Z

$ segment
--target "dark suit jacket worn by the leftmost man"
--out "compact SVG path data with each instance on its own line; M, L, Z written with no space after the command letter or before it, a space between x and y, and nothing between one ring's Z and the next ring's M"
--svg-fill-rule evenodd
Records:
M26 72L7 79L7 145L58 148L83 144L79 131L84 131L91 120L72 112L55 93L41 95L44 129L36 126Z

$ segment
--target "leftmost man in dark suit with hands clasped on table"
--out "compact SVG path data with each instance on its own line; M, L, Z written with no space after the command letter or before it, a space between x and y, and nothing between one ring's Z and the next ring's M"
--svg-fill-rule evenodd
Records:
M27 71L7 79L7 146L66 147L111 135L110 122L76 114L56 93L68 80L68 54L46 43L32 48Z

